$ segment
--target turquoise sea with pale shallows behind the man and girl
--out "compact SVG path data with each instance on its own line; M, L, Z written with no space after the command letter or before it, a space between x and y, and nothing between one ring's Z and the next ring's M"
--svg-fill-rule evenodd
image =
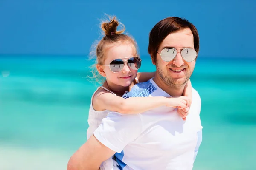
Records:
M140 72L155 71L142 60ZM0 56L0 170L66 169L86 141L90 64L85 56ZM199 56L191 81L204 127L194 170L256 170L256 59Z

